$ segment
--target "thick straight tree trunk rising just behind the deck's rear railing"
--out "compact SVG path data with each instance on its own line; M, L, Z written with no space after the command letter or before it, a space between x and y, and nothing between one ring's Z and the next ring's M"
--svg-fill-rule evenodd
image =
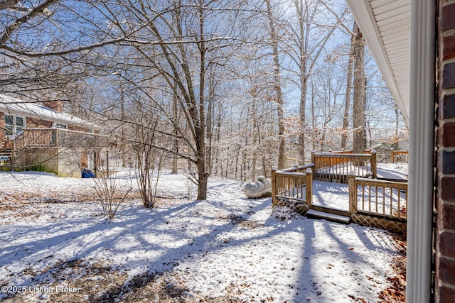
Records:
M353 153L365 152L365 41L355 26L354 38L354 99Z

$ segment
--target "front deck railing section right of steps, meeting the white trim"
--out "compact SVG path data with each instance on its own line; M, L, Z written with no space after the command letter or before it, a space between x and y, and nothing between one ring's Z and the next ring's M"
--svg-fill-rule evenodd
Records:
M407 219L407 182L349 175L349 212Z

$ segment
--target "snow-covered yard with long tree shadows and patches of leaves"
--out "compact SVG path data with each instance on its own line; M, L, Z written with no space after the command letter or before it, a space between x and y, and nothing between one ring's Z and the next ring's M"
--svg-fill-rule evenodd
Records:
M0 300L378 302L395 275L389 233L272 211L239 182L211 178L195 201L184 175L164 173L154 209L132 199L112 220L92 182L0 172Z

